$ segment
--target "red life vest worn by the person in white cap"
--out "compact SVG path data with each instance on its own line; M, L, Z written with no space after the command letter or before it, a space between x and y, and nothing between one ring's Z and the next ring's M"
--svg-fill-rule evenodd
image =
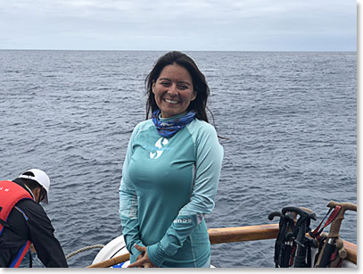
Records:
M29 192L20 185L12 181L0 181L0 235L6 225L6 220L16 203L22 199L33 199ZM30 241L28 240L21 246L20 251L17 253L14 261L10 264L11 268L18 268L22 259L28 252Z

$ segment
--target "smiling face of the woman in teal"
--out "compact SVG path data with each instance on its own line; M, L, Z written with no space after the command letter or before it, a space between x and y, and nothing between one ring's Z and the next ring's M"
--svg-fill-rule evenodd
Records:
M189 72L175 63L162 69L159 78L153 83L153 94L162 118L186 112L196 97Z

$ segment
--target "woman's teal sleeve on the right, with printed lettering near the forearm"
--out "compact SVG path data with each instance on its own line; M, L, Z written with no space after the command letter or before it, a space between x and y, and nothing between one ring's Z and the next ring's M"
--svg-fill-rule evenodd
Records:
M178 212L177 218L168 228L161 241L149 245L147 253L156 266L177 250L202 221L205 214L214 208L219 175L223 160L223 147L219 144L216 130L208 124L202 134L194 140L196 149L195 179L190 202Z

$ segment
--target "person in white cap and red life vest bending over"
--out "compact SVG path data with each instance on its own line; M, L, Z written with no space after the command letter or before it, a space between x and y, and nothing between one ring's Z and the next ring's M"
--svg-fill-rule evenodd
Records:
M48 203L50 180L31 169L17 179L0 180L0 268L19 267L30 245L48 268L66 268L62 246L39 203Z

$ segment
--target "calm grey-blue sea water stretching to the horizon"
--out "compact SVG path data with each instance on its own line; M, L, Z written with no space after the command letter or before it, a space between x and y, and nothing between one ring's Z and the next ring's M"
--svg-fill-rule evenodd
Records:
M144 78L161 54L0 51L0 178L32 167L49 174L45 211L66 254L121 233L122 163L144 120ZM321 220L330 200L357 203L355 52L187 54L228 138L209 228L271 223L268 213L288 205ZM357 243L356 227L356 212L346 212L342 237ZM70 267L91 264L97 252L70 258ZM274 240L213 245L211 262L273 267L273 253Z

